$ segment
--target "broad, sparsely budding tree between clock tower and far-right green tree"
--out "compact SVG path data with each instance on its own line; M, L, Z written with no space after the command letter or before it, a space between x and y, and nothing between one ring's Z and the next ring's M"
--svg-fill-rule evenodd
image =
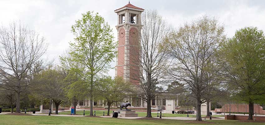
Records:
M207 87L219 84L208 83L220 74L214 57L224 40L224 26L208 16L185 23L168 37L166 51L173 60L168 73L184 83L191 96L196 98L197 121L202 121L200 107L207 100Z

